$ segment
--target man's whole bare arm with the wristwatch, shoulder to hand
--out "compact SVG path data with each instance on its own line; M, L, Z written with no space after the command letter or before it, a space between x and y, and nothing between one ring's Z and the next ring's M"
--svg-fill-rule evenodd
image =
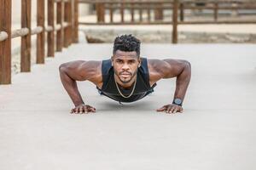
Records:
M191 77L191 65L188 61L182 59L154 59L152 67L155 75L153 79L159 80L160 78L172 78L177 77L176 90L174 99L181 99L183 101L187 88L189 87L189 81ZM173 100L174 100L173 99ZM165 105L157 111L166 112L182 112L182 105Z

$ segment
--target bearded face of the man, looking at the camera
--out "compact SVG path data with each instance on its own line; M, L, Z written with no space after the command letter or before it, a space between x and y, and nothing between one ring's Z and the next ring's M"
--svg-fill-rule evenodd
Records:
M117 50L113 54L112 65L114 74L119 78L119 81L126 84L134 80L133 77L137 75L141 59L139 59L135 51L125 52Z

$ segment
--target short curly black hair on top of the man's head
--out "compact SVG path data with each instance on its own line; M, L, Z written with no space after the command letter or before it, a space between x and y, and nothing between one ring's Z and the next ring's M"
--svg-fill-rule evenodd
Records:
M136 51L137 56L140 56L140 45L141 41L137 39L137 37L130 35L122 35L120 37L116 37L113 42L113 54L117 50L131 52Z

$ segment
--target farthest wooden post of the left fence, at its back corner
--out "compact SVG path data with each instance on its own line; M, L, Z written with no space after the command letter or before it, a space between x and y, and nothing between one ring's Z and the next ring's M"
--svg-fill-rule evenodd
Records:
M73 5L73 42L79 42L79 1L74 0Z

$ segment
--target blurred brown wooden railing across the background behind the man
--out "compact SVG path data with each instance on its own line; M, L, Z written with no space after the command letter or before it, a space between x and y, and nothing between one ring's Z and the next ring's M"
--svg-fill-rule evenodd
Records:
M256 14L254 20L218 20L220 10L256 10L254 0L79 0L79 3L96 5L96 22L80 21L81 25L172 25L172 43L177 43L177 25L256 24ZM188 9L212 10L212 20L186 20L184 11ZM135 20L136 10L138 20ZM171 11L170 19L165 20L164 10ZM131 20L124 19L124 11L130 11ZM114 12L119 13L120 20L113 20ZM146 20L143 19L145 12ZM106 20L107 13L109 21Z

